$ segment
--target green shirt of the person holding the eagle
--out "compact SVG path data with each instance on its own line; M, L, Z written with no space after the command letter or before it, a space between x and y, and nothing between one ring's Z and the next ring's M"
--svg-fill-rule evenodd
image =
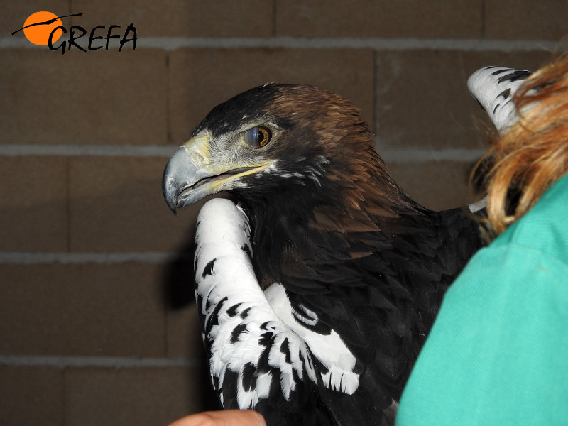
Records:
M396 425L568 425L568 175L449 288Z

